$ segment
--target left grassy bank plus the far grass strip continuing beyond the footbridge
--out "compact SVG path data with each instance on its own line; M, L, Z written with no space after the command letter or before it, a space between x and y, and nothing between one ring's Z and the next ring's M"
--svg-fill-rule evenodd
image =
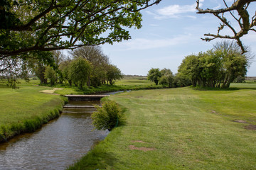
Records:
M146 79L124 79L117 86L103 85L97 88L85 87L83 91L75 86L38 86L38 80L29 83L21 80L19 89L0 84L0 142L23 132L33 132L49 120L58 118L67 101L65 94L97 94L110 91L139 89L161 89Z

